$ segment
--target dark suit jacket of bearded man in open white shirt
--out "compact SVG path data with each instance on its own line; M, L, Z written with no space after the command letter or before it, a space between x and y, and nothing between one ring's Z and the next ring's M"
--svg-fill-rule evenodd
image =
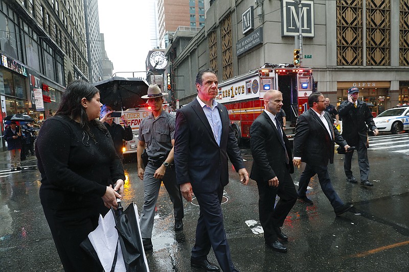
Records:
M331 115L324 111L324 117L330 128L330 135L313 109L301 114L297 119L294 135L294 157L301 157L309 165L325 166L328 161L334 161L334 146L336 142L344 147L347 142L335 128Z

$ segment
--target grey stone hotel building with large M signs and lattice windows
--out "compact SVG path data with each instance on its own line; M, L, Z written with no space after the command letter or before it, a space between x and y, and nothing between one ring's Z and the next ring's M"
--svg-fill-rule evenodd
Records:
M165 52L181 104L195 96L194 76L201 68L213 68L221 82L264 63L292 63L293 49L300 47L294 39L299 24L302 65L314 70L316 90L332 104L346 100L352 86L360 88L360 99L374 104L374 115L408 103L405 0L303 0L300 19L292 0L215 0L207 5L205 28L193 37L174 37ZM186 38L188 44L181 42Z

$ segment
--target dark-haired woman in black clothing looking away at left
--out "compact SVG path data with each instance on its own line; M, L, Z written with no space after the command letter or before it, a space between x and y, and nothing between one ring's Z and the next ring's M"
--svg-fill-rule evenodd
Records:
M40 200L65 271L101 270L80 243L98 226L99 214L118 207L124 169L105 126L96 118L97 88L69 84L54 117L38 135Z

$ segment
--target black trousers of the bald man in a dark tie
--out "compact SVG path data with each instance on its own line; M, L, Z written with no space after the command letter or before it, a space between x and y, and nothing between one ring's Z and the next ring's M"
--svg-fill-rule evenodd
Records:
M275 227L282 227L288 213L297 201L297 191L288 171L284 180L279 180L278 187L269 186L266 181L257 181L259 189L259 214L261 226L264 230L266 243L277 240ZM277 202L276 197L280 196Z

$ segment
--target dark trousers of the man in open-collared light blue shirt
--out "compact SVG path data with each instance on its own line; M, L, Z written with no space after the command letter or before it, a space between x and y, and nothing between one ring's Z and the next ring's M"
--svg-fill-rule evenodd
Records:
M223 213L220 206L223 186L220 184L217 191L195 193L195 196L199 203L200 213L192 259L206 260L212 247L223 272L237 272L230 256L230 247L224 231Z

